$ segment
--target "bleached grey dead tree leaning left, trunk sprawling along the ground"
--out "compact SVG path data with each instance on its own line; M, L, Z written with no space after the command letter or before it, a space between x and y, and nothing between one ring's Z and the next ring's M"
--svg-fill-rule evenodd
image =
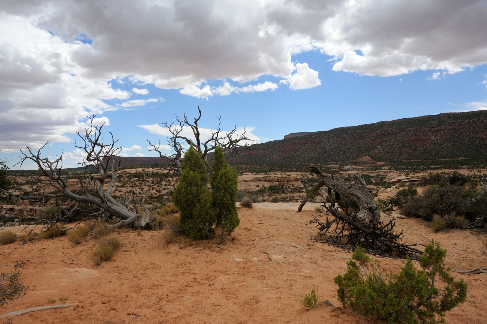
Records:
M79 203L84 203L88 206L90 216L98 218L115 216L119 221L113 225L112 228L118 228L124 224L132 224L136 228L144 227L150 224L149 209L146 206L146 198L150 191L149 189L142 198L138 200L133 197L133 188L130 192L122 191L122 197L115 199L112 196L114 184L117 180L118 172L120 170L120 161L115 165L114 157L122 150L122 147L116 147L118 140L113 138L110 133L108 141L102 136L103 125L94 125L94 118L96 115L90 117L90 126L85 129L85 133L77 133L81 141L78 145L75 143L75 148L81 150L85 154L83 162L79 164L85 166L85 176L78 177L78 185L81 189L72 192L68 189L67 180L69 175L62 172L63 156L56 156L54 159L48 157L41 157L41 150L46 146L44 144L37 152L34 152L30 147L26 147L27 152L22 152L23 157L19 162L20 166L26 161L33 161L37 164L38 171L51 186L56 188L57 193L43 194L40 196L22 195L10 191L4 191L12 198L19 200L31 200L45 204L52 198L66 197L68 198L68 205L62 209L65 216L78 209ZM92 171L96 171L91 173ZM144 177L145 181L145 177ZM147 185L147 182L146 182ZM132 185L133 187L133 185ZM136 207L131 207L131 203L137 202L144 208L145 217L143 217ZM56 222L62 220L64 217L58 217L56 220L50 222L50 226L57 226Z

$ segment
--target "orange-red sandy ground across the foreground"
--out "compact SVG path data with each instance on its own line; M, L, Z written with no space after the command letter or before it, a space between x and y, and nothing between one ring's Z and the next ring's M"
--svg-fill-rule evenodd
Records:
M78 246L67 237L0 246L1 264L28 260L21 278L35 288L2 306L0 314L53 305L48 299L55 299L55 305L83 304L14 316L14 323L382 323L337 302L333 278L345 272L347 259L340 257L351 253L311 243L315 228L309 219L316 212L296 213L294 207L286 210L290 207L281 203L268 205L239 209L241 225L236 239L226 246L213 240L168 246L162 243L161 232L143 231L137 236L134 230L123 229L116 235L125 246L99 267L90 260L94 239ZM399 219L396 224L406 230L407 242L440 241L448 249L448 267L465 270L487 264L480 253L485 230L435 234L418 219ZM390 258L381 262L393 271L402 264ZM453 276L468 282L468 298L448 313L447 323L486 323L487 276ZM313 285L335 306L300 313L298 298ZM69 299L60 302L61 296ZM140 315L133 318L127 313Z

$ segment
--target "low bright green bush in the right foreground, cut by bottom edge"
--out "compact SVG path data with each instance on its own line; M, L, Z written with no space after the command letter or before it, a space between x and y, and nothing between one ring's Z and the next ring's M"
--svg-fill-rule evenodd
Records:
M401 272L386 275L378 261L357 248L347 262L347 272L335 277L337 299L360 315L389 324L445 323L445 312L465 302L468 287L443 267L446 253L431 240L420 258L422 270L407 260ZM445 285L443 289L437 287L439 282Z

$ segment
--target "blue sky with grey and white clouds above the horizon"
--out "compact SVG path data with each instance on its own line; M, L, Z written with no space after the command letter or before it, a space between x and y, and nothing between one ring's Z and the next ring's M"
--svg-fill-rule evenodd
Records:
M0 157L49 142L73 167L92 114L121 155L157 156L159 124L197 107L204 133L221 116L254 143L486 110L485 17L485 0L4 0Z

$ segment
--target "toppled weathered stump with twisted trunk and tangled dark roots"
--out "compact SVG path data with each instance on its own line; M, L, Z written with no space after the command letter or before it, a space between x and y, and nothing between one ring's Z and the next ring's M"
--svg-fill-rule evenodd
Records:
M318 175L321 181L302 201L298 211L301 211L306 201L316 194L321 187L327 190L327 201L322 207L331 214L322 221L316 216L310 223L316 223L317 242L330 243L343 248L362 247L373 254L388 254L402 258L417 259L421 254L413 246L418 244L400 243L404 231L394 233L393 221L380 220L380 211L374 198L370 194L365 181L358 177L360 187L344 184L332 176L321 172L316 167L310 167L311 172ZM335 192L333 196L332 191Z

